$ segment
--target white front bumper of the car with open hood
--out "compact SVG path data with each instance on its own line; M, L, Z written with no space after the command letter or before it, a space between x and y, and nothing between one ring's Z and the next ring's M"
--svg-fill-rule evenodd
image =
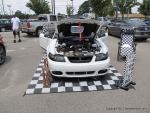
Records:
M90 63L55 62L48 58L49 70L57 77L94 77L105 75L110 66L110 58Z

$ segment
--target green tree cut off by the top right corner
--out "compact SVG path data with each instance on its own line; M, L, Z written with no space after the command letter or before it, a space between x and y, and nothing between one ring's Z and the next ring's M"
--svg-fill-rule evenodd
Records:
M146 16L150 16L150 1L144 0L143 3L140 5L138 11Z

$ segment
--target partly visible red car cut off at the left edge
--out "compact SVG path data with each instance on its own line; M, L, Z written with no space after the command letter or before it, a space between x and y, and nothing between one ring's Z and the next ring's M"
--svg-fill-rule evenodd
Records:
M6 49L3 42L3 37L0 35L0 65L5 62L6 59Z

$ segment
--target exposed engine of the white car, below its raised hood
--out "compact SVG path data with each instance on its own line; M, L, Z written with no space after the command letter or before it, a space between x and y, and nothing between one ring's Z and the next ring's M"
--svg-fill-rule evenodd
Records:
M68 57L93 56L96 52L100 52L100 45L93 37L69 36L58 40L56 46L58 53Z

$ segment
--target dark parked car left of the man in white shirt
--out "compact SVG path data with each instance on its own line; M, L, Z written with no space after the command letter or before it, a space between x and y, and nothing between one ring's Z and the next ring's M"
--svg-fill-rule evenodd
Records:
M12 23L10 19L0 19L0 31L5 32L12 30Z

